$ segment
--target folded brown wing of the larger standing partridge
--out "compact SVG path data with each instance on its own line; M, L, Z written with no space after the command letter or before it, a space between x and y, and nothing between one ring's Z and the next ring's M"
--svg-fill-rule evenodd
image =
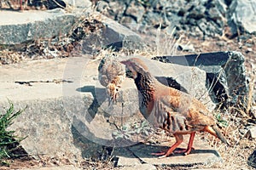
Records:
M169 94L161 94L159 99L155 100L155 108L158 109L159 114L163 117L160 118L161 122L164 122L163 125L166 123L163 120L170 122L171 127L168 128L169 131L173 133L180 130L180 133L186 133L201 130L206 125L211 126L215 124L211 112L200 101L176 89L170 90L168 88L168 90Z

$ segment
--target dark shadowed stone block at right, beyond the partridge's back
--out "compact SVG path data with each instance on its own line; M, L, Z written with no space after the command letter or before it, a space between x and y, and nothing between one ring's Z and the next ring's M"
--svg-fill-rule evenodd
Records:
M177 65L195 65L207 72L207 88L214 102L225 105L247 104L247 78L244 56L238 52L217 52L182 56L160 56L153 59Z

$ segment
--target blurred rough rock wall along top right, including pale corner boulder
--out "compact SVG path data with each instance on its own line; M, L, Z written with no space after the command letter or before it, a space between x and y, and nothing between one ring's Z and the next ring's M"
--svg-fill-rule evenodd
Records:
M148 26L147 32L150 32L153 27L159 27L160 23L162 29L168 31L177 27L177 31L186 31L193 37L218 37L226 33L230 34L228 37L236 37L238 33L255 31L255 3L249 0L103 2L105 8L97 8L98 11L137 31L144 30L134 26L136 24ZM226 27L231 32L224 32Z

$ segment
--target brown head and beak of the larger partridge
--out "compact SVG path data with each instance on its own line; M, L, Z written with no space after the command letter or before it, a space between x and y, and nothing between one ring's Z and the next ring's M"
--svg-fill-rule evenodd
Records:
M124 64L128 71L131 72L131 74L127 74L127 77L132 77L133 79L137 78L138 73L144 75L146 72L148 72L148 67L144 65L143 60L139 58L123 60L120 61L120 63Z

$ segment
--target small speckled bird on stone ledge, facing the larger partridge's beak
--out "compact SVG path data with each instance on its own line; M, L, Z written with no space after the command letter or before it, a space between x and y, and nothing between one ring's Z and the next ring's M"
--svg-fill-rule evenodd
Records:
M125 80L125 65L119 63L117 57L106 55L98 66L98 78L106 87L109 99L115 101L120 83Z

